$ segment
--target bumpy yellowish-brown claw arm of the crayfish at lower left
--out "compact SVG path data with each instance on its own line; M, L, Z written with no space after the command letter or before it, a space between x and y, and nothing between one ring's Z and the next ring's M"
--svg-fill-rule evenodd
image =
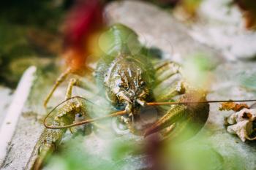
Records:
M69 125L74 122L75 115L78 113L86 115L86 107L82 104L82 101L75 98L59 109L51 124L53 126ZM32 153L31 159L34 159L34 164L31 169L38 170L42 168L48 157L59 147L66 131L67 128L44 129Z

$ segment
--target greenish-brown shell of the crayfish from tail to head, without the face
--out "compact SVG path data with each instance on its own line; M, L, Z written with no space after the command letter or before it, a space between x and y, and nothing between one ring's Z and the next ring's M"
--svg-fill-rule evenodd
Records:
M148 89L153 89L154 69L151 58L147 55L146 48L140 45L138 35L127 26L116 24L111 26L104 36L110 40L108 45L105 45L105 55L97 64L95 72L102 94L107 94L113 104L118 104L118 81L124 81L124 78L129 82L143 81ZM151 98L151 90L147 93L148 99Z

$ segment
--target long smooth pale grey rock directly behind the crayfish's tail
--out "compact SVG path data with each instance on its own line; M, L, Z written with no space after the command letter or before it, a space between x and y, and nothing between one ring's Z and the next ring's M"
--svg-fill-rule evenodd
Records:
M170 13L142 1L120 1L109 4L105 16L111 23L123 23L135 30L147 47L159 47L167 58L182 63L197 53L208 57L213 66L223 61L222 55L189 36L189 29Z

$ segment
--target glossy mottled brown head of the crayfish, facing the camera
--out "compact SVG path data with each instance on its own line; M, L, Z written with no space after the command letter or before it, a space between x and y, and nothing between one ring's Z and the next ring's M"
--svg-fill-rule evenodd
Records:
M126 109L127 113L136 114L136 110L145 107L151 98L148 76L146 71L134 58L119 58L105 77L108 99Z

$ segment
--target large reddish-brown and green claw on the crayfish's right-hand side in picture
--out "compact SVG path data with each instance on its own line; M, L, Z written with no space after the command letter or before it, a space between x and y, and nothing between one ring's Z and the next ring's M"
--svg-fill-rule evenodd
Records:
M205 93L191 91L181 96L179 101L205 101ZM172 136L181 136L181 139L188 139L197 134L206 123L209 115L209 104L178 104L171 107L151 128L148 128L144 136L148 136L164 128L177 123L176 128L171 132ZM181 128L182 127L182 128Z

